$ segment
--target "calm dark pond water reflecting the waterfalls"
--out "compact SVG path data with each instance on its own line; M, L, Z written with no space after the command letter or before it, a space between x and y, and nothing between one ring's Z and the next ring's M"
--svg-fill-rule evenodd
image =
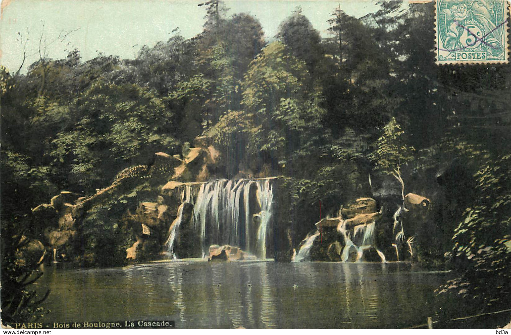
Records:
M176 328L404 328L433 316L446 273L394 262L173 261L45 267L42 322L173 320Z

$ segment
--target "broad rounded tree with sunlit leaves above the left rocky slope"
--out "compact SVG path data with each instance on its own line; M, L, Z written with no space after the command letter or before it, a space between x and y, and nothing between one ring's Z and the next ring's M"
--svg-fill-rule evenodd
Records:
M174 114L148 89L96 80L70 106L51 140L61 181L73 189L99 188L127 165L147 163L154 152L173 152Z

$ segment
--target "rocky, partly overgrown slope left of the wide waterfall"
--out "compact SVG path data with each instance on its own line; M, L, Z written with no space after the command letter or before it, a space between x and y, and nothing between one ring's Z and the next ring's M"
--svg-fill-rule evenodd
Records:
M48 258L56 249L55 260L83 265L157 258L180 203L175 185L215 178L218 156L207 145L183 157L157 152L150 164L121 171L95 194L61 192L33 209L41 227L38 240Z

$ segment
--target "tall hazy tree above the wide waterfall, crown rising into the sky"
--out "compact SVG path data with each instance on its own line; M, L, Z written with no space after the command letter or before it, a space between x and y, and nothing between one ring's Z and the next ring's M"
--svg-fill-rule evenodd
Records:
M240 109L241 82L264 45L263 36L261 23L248 14L221 16L218 24L204 26L190 76L169 94L183 106L183 127L191 131L186 140L214 126L229 110Z

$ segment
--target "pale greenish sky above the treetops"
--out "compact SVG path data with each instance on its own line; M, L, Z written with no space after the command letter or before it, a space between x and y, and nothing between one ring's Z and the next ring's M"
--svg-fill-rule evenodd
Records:
M64 58L78 49L83 61L100 53L134 58L143 45L153 46L179 33L191 38L202 31L205 7L200 0L3 0L0 20L1 63L16 72L26 43L28 65L39 58L39 42L49 58ZM225 0L229 11L249 13L261 22L266 39L297 6L323 36L339 5L348 15L361 17L377 9L375 1L360 0ZM177 31L172 32L176 28ZM59 39L59 35L68 34ZM44 49L41 47L41 49Z

